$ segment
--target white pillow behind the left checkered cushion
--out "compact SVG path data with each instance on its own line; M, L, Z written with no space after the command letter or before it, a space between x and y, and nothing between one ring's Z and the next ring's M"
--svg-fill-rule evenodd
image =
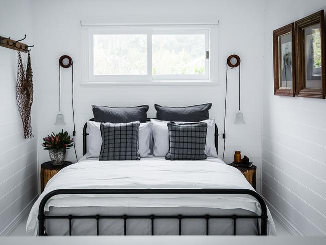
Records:
M88 157L99 157L102 146L102 136L100 130L101 122L87 121ZM144 122L140 124L138 131L138 152L140 157L152 157L150 155L149 140L151 136L152 123Z

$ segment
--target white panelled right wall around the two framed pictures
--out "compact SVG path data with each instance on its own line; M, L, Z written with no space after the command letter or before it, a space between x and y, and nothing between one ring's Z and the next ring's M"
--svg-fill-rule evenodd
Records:
M293 232L326 234L326 101L274 96L272 31L326 7L266 1L262 193Z

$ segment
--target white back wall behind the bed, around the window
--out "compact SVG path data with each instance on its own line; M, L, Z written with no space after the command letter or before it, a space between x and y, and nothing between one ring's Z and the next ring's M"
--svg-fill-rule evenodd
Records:
M249 8L250 7L250 8ZM229 74L227 105L226 162L232 162L234 150L241 150L258 167L260 190L262 90L263 81L263 8L264 2L251 1L34 1L35 56L34 67L38 105L39 164L48 161L40 146L42 137L55 127L58 111L58 59L70 55L75 69L76 145L82 156L82 127L92 117L91 104L131 106L148 104L148 116L155 116L153 104L193 105L212 102L210 111L223 130L225 63L231 54L241 57L242 111L246 125L234 125L238 103L238 70ZM80 21L101 23L196 23L217 22L219 25L220 84L215 86L106 86L89 87L81 83ZM62 70L62 112L72 132L71 70ZM254 94L254 96L253 96ZM222 137L219 154L222 153ZM68 160L74 161L73 150Z

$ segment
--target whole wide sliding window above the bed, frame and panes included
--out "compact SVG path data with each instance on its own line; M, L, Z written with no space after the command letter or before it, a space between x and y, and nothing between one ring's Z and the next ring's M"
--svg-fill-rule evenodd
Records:
M216 80L216 25L82 26L83 83Z

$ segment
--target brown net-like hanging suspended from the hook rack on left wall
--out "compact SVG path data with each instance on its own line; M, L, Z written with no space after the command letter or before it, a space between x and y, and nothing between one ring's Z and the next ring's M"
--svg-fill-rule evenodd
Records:
M31 109L33 104L33 71L30 52L28 52L26 72L24 69L21 52L18 52L16 99L18 111L23 122L24 138L32 138Z

